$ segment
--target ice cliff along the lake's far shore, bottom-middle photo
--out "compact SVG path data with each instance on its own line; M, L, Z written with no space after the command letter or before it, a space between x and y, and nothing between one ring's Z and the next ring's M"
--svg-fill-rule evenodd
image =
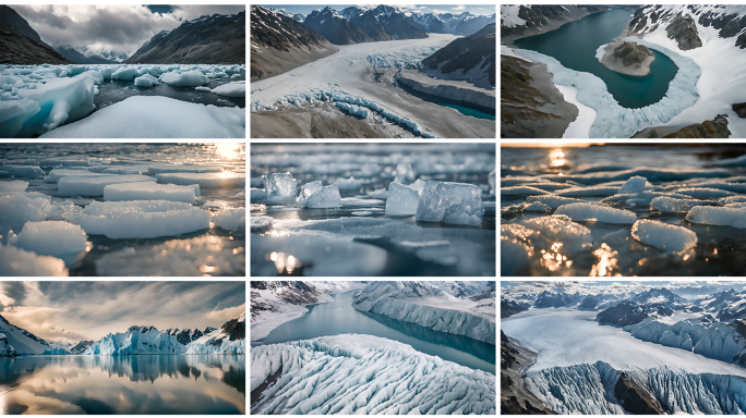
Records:
M442 296L432 285L418 282L373 282L358 292L352 307L420 327L495 344L495 322L464 310L440 308L417 303L419 297ZM448 300L444 298L443 306Z

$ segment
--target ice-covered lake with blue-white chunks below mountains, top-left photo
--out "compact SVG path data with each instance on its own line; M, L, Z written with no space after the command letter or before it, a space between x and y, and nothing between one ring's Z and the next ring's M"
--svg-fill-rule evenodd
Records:
M0 136L244 137L244 110L218 99L245 97L245 81L228 78L244 74L245 65L0 65ZM148 89L195 93L186 101ZM111 101L97 104L99 94Z

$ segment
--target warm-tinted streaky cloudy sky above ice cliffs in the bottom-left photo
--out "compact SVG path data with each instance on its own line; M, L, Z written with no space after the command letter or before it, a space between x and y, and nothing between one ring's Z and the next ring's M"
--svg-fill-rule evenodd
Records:
M219 328L245 311L245 282L0 282L0 315L47 342L132 325Z

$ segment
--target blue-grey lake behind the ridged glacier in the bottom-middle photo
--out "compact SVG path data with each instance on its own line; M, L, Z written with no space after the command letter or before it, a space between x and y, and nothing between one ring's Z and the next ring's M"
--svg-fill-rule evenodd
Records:
M352 307L353 292L334 295L334 300L309 305L309 311L272 330L252 346L309 340L325 335L369 334L409 344L418 352L437 356L472 369L495 373L495 345L462 335L433 331Z

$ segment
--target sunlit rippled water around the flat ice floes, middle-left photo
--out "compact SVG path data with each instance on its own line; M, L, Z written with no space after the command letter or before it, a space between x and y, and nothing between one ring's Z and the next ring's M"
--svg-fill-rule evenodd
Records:
M50 195L52 201L72 200L81 207L92 201L104 201L103 196L58 197L57 183L45 183L43 177L16 179L3 171L7 165L37 165L50 158L59 161L47 165L41 163L39 167L45 175L55 168L96 170L148 163L220 165L226 172L245 172L243 144L0 144L0 181L28 181L26 192ZM201 187L201 196L194 206L210 213L222 208L245 208L243 187ZM0 228L0 242L8 244L9 230ZM97 260L124 248L133 248L142 257L117 270L116 275L245 274L245 231L226 231L214 222L209 229L177 236L111 239L88 234L87 241L91 243L87 253L72 260L65 259L70 275L96 275ZM175 266L182 269L175 271L156 256L161 260L168 256L181 258L184 262L176 262ZM186 267L186 263L194 265L194 268Z

